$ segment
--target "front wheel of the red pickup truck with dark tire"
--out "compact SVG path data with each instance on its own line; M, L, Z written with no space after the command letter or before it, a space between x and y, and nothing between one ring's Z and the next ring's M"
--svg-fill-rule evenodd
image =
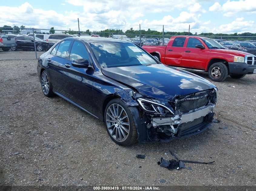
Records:
M228 68L223 63L216 62L210 66L208 75L212 81L223 81L228 76Z

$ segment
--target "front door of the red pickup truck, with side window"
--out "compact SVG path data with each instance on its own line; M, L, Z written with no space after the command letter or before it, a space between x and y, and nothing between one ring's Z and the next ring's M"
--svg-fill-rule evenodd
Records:
M189 37L185 42L185 48L182 56L182 67L185 68L197 68L204 69L207 64L208 58L208 48L204 46L205 49L200 49L195 47L196 45L203 45L203 43L193 37Z

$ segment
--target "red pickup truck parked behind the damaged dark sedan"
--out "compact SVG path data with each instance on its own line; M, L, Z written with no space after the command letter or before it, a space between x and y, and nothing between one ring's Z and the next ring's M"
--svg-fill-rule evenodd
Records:
M166 65L195 72L208 72L212 81L223 81L230 75L242 78L256 73L256 56L225 49L205 37L175 36L167 46L142 46Z

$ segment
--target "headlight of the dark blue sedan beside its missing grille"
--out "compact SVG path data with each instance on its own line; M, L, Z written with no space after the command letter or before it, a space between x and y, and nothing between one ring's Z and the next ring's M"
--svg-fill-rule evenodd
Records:
M168 107L160 103L156 103L150 100L145 100L143 98L138 98L137 100L141 105L141 107L148 112L158 113L162 115L165 115L168 112L171 112L172 114L174 114L172 110L170 110Z

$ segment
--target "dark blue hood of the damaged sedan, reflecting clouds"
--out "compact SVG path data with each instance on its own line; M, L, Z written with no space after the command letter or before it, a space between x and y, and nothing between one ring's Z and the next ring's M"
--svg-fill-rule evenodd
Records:
M215 88L198 75L164 64L102 68L102 73L119 83L135 88L145 97L172 100L178 95Z

